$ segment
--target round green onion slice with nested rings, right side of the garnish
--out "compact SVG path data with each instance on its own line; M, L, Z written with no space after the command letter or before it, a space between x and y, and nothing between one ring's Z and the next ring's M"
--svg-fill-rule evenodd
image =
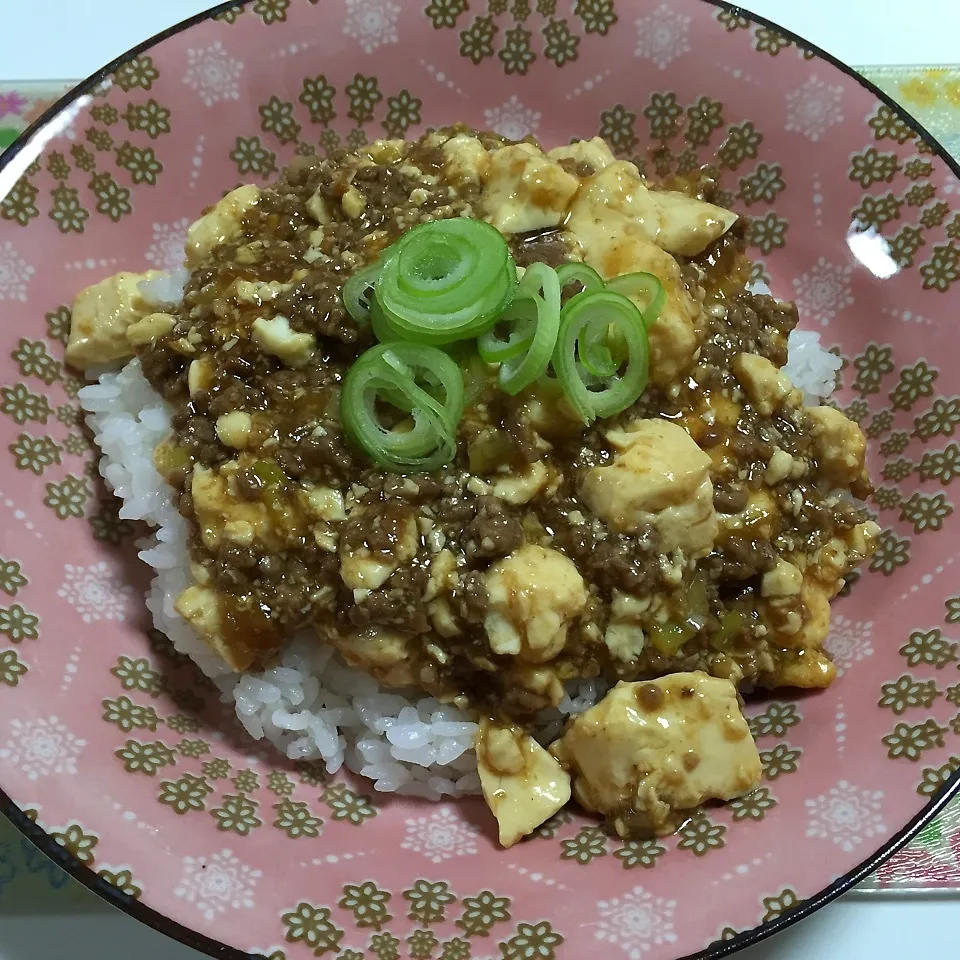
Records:
M649 365L646 326L632 300L603 290L577 294L564 305L553 369L584 423L634 403L647 385Z

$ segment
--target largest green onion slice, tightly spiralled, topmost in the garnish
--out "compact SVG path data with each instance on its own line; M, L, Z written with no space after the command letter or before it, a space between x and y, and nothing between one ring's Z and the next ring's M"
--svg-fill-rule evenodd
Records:
M482 220L421 224L383 255L376 297L386 324L417 343L466 340L489 329L516 290L503 236Z

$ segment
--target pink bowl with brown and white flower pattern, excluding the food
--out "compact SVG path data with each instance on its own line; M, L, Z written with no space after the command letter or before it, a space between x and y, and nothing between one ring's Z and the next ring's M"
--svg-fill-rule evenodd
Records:
M225 189L456 120L599 133L650 173L714 162L758 276L847 358L884 531L835 608L840 677L755 707L764 785L673 837L561 815L504 852L477 801L373 795L245 739L147 629L60 359L76 291L175 266ZM849 70L705 0L251 0L105 68L0 166L3 812L220 957L719 957L839 895L960 786L958 175Z

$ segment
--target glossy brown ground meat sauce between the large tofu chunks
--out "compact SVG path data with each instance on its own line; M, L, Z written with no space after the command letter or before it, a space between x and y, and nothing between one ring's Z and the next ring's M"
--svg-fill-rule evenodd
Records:
M453 132L298 157L262 191L241 235L193 270L174 330L141 353L145 375L174 408L158 465L190 521L194 578L216 593L231 659L262 667L293 631L314 624L318 642L334 643L385 681L519 717L551 702L551 683L600 673L637 679L702 669L737 682L799 682L795 668L810 651L774 638L787 629L777 617L790 613L763 599L762 578L786 553L813 564L817 551L846 542L866 517L820 476L802 408L762 413L743 398L735 358L755 354L782 366L797 314L791 304L746 292L742 223L699 257L677 258L700 310L693 368L676 385L648 388L612 423L583 429L548 414L553 422L544 424L536 413L542 397L508 397L488 372L476 382L468 369L473 401L457 459L438 474L384 474L343 436L339 387L373 342L345 311L343 283L412 226L482 212L479 187L444 177L439 144ZM480 140L488 148L504 143L489 134ZM562 165L581 177L593 172L581 161ZM672 186L703 197L713 183L704 174ZM559 229L515 236L511 249L519 266L574 258ZM279 287L244 298L238 281ZM315 338L316 349L302 364L285 365L250 335L262 316L285 317L291 331ZM206 376L191 386L200 356ZM704 397L720 394L736 398L732 415L702 415ZM218 427L237 412L252 424L240 452ZM651 417L685 426L714 460L716 511L745 518L696 563L665 553L653 524L629 534L608 528L581 497L586 472L615 455L608 429ZM777 450L808 469L771 486L764 476ZM539 465L547 480L532 496L499 490ZM223 478L230 509L254 511L268 533L233 537L239 528L227 524L211 537L209 505L197 500L199 470ZM853 492L867 493L865 481ZM587 592L562 652L544 666L495 653L485 629L493 603L487 574L524 544L573 561ZM604 643L623 595L656 611L629 661ZM403 638L401 663L361 649L354 638L370 629Z

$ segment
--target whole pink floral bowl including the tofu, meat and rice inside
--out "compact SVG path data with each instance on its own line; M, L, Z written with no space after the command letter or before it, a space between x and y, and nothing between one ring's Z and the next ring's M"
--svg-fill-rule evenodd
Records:
M706 960L868 872L945 877L949 851L893 854L958 786L960 170L743 11L461 6L219 8L0 157L0 812L236 960ZM640 182L613 166L593 232L586 202L500 231L487 182L425 157L437 183L400 160L344 209L337 169L448 133L584 201L599 137ZM626 195L646 214L612 223ZM456 222L394 222L434 202ZM709 212L702 252L661 236L671 202ZM71 365L85 311L106 352Z

